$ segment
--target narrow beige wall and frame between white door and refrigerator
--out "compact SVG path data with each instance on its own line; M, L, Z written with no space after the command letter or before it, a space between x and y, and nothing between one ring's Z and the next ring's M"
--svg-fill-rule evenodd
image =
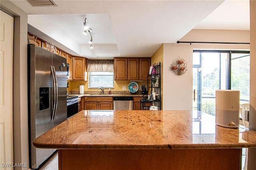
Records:
M10 1L0 1L1 9L14 16L13 56L13 130L14 163L28 160L28 79L27 79L27 32L28 15ZM11 162L8 162L11 163ZM14 170L28 168L15 167Z

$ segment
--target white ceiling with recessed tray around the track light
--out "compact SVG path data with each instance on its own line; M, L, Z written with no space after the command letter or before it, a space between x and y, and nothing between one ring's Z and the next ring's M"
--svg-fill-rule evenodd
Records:
M250 29L249 0L54 0L52 7L10 1L29 14L29 32L87 58L151 57L193 28ZM82 34L84 18L94 49Z

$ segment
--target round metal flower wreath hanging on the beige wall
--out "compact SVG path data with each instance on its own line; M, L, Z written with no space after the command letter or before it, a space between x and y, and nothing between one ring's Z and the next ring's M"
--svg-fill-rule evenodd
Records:
M170 70L173 71L174 74L176 75L182 75L185 74L187 69L187 63L184 59L176 58L172 61L172 64L170 66Z

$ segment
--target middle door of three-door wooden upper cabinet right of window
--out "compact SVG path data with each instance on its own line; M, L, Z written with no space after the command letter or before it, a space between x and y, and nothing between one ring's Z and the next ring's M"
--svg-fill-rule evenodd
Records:
M139 59L128 59L128 80L139 80Z

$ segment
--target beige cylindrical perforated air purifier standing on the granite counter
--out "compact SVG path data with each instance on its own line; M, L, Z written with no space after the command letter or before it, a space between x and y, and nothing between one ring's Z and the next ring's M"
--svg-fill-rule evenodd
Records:
M239 127L240 91L216 90L215 122L222 127Z

